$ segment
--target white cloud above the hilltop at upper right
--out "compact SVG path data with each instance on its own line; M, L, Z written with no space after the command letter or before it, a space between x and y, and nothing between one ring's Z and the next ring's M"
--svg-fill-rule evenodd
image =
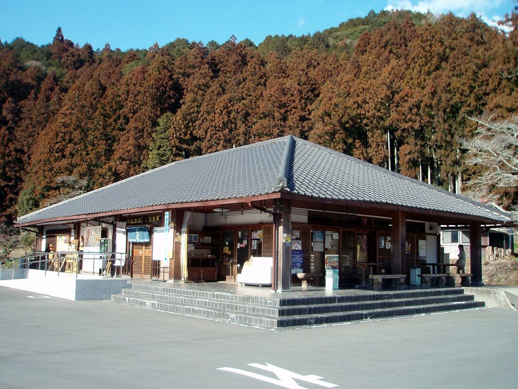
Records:
M396 0L387 4L386 10L408 9L426 13L448 13L453 12L460 17L466 17L471 12L479 16L488 25L497 26L501 16L488 17L487 13L499 6L502 0L421 0L418 2L410 0Z

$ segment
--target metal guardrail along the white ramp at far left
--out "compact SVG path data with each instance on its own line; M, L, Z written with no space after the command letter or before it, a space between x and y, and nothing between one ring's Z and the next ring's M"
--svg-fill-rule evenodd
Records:
M45 270L45 275L48 271L60 273L76 274L76 279L79 274L89 274L90 264L92 262L92 272L90 274L97 274L105 276L119 276L122 278L122 268L126 263L126 253L85 253L85 252L28 252L24 257L4 260L0 262L8 263L12 261L12 269L14 276L14 269L39 269ZM10 267L9 267L10 268ZM119 268L119 275L117 275L117 268ZM109 272L109 274L108 274Z

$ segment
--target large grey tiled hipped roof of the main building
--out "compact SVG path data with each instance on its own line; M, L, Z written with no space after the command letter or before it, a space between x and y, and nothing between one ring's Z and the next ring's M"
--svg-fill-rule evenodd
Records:
M18 223L275 191L510 220L464 197L286 136L173 162L25 215Z

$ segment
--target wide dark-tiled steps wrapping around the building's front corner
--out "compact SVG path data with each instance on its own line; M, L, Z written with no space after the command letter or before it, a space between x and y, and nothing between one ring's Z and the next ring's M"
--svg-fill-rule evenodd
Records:
M220 285L218 285L220 284ZM181 287L178 287L180 285ZM112 300L217 321L282 329L484 307L463 288L290 290L221 283L128 283Z

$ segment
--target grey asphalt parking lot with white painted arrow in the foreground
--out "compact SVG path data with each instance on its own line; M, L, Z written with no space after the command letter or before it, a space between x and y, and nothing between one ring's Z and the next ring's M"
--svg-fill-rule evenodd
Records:
M0 287L1 388L514 389L518 382L516 311L276 332L37 296Z

